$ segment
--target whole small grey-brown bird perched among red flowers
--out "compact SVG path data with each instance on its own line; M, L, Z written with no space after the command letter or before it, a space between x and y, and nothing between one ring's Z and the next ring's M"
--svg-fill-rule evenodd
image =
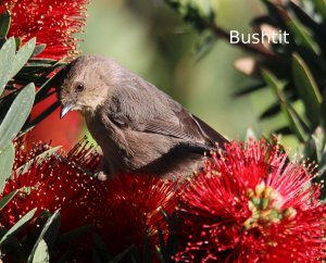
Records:
M152 84L113 60L83 55L62 72L61 117L80 111L103 152L102 176L190 174L227 140Z

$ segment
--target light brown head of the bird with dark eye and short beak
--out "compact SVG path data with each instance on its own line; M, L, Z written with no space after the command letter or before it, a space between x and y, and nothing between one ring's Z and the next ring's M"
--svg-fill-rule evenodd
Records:
M116 62L96 55L82 55L71 62L60 73L61 117L70 111L95 112L110 100L123 71Z

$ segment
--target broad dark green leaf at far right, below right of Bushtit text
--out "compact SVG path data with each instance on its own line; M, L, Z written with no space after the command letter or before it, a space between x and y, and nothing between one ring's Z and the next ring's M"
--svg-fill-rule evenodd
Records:
M296 88L305 107L305 114L316 127L321 117L322 95L308 65L299 54L292 55L292 75Z

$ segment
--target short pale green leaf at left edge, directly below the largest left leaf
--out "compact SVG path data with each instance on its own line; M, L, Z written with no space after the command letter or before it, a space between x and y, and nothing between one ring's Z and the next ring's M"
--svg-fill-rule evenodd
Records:
M0 151L0 192L2 192L8 177L11 175L15 159L15 149L12 143L3 151Z

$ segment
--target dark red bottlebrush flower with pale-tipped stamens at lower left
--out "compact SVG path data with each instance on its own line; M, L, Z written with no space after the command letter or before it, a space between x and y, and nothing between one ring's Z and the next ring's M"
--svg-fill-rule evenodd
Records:
M17 143L14 173L1 196L16 189L21 191L2 210L1 225L11 227L34 208L38 209L38 213L42 210L53 213L60 209L64 230L88 224L92 218L91 211L85 211L88 209L85 203L89 199L92 201L93 195L96 199L97 193L104 191L105 187L85 174L85 171L96 170L99 155L78 143L67 156L54 153L42 161L38 160L38 155L47 148L46 145L37 145L26 152L24 146Z

